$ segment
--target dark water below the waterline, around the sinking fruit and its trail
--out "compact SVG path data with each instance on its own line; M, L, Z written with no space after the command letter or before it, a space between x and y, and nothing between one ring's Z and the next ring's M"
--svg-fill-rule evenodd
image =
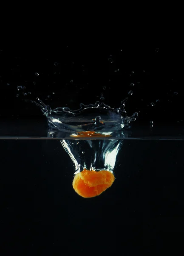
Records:
M124 140L113 185L82 198L59 140L0 140L0 247L24 255L41 255L38 246L59 255L142 255L164 252L173 237L180 244L183 148L182 140Z

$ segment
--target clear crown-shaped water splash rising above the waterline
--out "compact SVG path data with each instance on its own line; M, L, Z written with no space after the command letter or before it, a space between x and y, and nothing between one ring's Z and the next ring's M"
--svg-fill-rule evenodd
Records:
M84 105L80 104L77 110L66 107L51 109L40 99L32 101L39 106L48 121L49 132L54 131L70 133L70 137L111 137L114 132L123 131L131 121L136 120L138 113L127 116L125 102L121 102L119 108L110 108L105 103Z

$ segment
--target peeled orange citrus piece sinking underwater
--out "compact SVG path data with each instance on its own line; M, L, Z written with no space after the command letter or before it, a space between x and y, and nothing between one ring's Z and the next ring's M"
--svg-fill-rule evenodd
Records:
M90 171L84 169L75 175L73 188L75 192L84 198L95 197L108 189L115 177L109 171Z

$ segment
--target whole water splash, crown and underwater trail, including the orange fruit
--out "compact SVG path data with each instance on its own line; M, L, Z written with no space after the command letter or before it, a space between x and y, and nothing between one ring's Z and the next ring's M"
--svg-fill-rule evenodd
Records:
M127 116L124 109L127 99L119 108L96 102L80 104L77 110L66 107L52 110L40 99L39 103L32 101L47 118L49 137L57 137L58 133L62 138L68 136L60 142L75 166L73 188L83 198L102 194L115 180L113 169L124 129L138 115Z

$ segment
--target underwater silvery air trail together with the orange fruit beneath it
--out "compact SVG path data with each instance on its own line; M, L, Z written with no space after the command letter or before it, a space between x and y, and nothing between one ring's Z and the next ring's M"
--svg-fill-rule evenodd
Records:
M83 198L112 186L113 169L122 140L60 140L75 166L73 188Z

